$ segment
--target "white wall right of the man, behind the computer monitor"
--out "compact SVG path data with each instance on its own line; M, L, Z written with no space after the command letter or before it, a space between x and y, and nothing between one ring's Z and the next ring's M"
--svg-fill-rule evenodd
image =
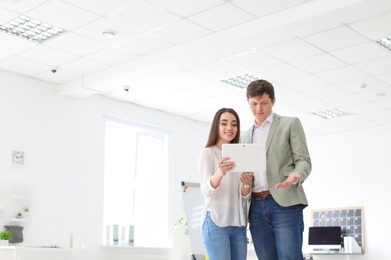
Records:
M363 206L365 254L350 259L391 259L387 243L391 234L391 127L309 138L308 142L313 170L304 183L310 203L305 209L304 241L308 242L311 209Z

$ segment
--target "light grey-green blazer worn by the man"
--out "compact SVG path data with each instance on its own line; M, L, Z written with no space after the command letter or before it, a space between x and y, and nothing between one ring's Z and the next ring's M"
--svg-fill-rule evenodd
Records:
M241 143L252 143L253 127L241 137ZM281 206L303 204L308 206L302 185L298 188L275 188L284 182L289 174L300 173L302 183L311 172L311 158L307 148L305 133L296 117L274 114L266 140L266 176L269 190L274 200Z

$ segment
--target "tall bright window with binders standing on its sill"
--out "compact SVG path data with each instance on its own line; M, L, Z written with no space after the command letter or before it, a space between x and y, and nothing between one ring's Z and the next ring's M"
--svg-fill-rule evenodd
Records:
M167 144L164 129L106 118L105 244L172 245Z

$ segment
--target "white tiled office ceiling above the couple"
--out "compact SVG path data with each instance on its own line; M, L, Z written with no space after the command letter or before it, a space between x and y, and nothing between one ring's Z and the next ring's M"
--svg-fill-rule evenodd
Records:
M273 83L274 111L300 117L308 134L391 125L391 51L376 43L391 36L389 0L0 0L0 24L20 15L65 32L43 43L0 32L0 69L60 95L203 122L232 107L244 129L245 90L221 80L251 73ZM102 37L108 30L117 36ZM335 107L351 114L312 114Z

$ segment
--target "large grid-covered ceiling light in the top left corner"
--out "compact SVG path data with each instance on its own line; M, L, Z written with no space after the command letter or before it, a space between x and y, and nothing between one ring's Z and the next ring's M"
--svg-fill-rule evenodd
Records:
M1 24L0 31L38 43L64 32L63 29L24 15L8 23Z

